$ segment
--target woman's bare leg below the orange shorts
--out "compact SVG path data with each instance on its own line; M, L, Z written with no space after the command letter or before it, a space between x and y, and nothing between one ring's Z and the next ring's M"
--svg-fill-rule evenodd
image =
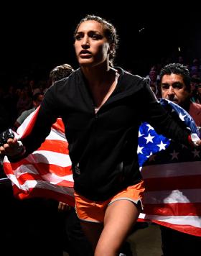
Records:
M113 202L106 209L104 228L95 248L95 256L116 256L134 223L139 209L128 200Z

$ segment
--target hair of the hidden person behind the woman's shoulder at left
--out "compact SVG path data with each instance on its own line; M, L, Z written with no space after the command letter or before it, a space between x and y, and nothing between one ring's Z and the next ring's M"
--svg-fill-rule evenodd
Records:
M69 64L57 65L50 71L50 80L54 83L55 81L59 81L62 78L70 76L73 71L72 66Z

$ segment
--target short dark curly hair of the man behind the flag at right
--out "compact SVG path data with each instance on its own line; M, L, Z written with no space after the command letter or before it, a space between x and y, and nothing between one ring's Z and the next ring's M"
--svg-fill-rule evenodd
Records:
M160 76L160 82L162 82L162 77L164 75L171 75L171 74L178 74L182 76L185 86L187 87L188 91L191 91L190 87L190 72L187 69L187 67L180 63L170 63L168 65L165 65L164 68L162 68L159 76Z

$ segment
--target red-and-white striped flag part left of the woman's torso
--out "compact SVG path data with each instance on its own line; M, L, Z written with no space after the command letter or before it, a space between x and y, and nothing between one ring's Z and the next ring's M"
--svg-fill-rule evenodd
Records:
M39 108L17 129L19 137L26 137L31 132L38 111ZM4 157L4 172L11 180L14 196L19 199L54 198L74 206L74 182L67 147L64 125L57 119L38 150L17 163L10 163Z

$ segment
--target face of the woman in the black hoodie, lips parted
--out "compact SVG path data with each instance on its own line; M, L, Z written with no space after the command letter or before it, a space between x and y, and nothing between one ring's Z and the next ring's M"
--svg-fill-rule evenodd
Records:
M80 24L75 34L75 54L81 66L94 67L109 58L112 47L104 35L103 24L88 20Z

